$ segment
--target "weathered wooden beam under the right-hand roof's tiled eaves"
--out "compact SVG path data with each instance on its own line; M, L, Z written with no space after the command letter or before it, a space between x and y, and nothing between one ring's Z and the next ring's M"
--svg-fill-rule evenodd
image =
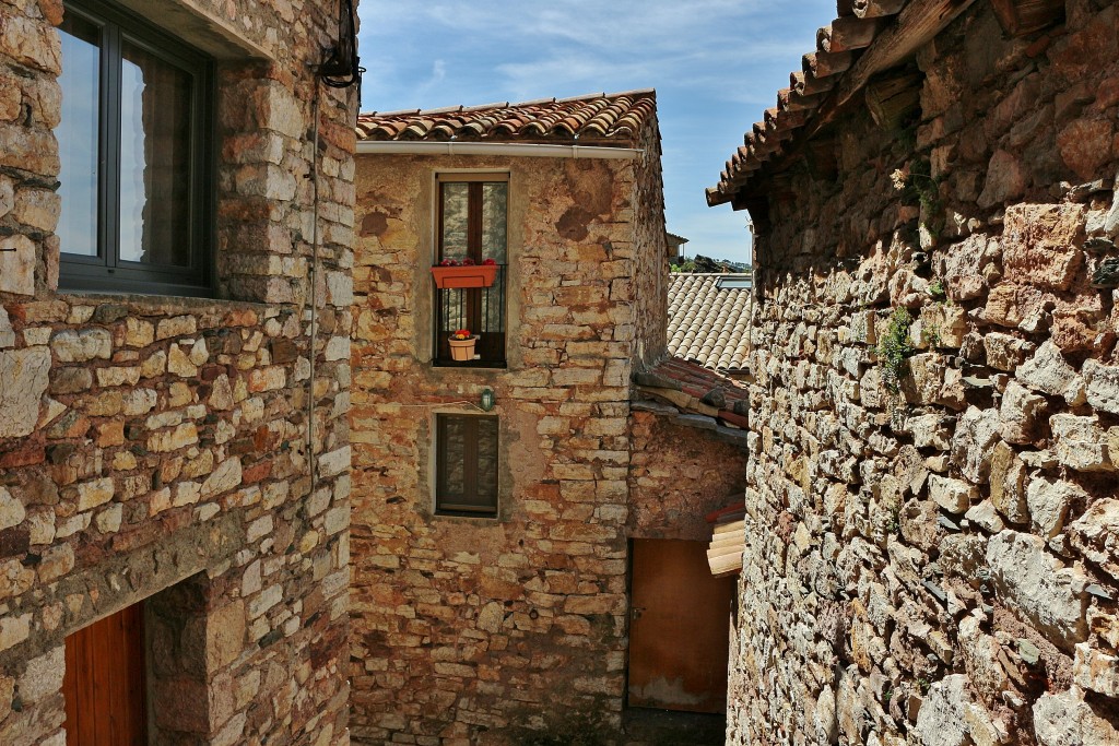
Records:
M875 73L903 62L940 34L975 0L910 0L895 22L875 39L820 105L812 132L830 124ZM881 19L880 19L881 20Z

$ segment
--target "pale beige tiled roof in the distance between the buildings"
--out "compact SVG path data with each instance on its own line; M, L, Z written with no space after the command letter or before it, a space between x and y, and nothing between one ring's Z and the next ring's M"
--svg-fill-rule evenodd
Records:
M709 370L733 372L746 362L749 287L721 287L745 274L673 273L668 283L668 352Z

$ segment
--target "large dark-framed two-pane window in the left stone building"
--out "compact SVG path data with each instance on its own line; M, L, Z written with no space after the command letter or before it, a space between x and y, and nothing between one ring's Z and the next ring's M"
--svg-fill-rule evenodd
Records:
M60 286L208 294L209 60L97 0L59 30Z

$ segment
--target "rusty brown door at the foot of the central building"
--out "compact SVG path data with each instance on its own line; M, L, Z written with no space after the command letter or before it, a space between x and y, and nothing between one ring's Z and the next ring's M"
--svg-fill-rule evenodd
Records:
M634 539L631 589L630 706L725 712L735 578L704 541Z

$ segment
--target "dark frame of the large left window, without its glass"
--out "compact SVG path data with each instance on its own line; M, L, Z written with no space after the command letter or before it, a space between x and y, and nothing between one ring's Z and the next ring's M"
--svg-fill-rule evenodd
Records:
M67 254L59 246L58 287L63 292L213 296L216 198L216 82L211 57L133 12L102 0L66 0L65 12L101 31L97 136L97 255ZM124 43L191 78L189 266L120 258L121 97ZM66 60L63 60L63 65ZM63 92L65 95L65 91ZM65 173L62 174L65 178Z

